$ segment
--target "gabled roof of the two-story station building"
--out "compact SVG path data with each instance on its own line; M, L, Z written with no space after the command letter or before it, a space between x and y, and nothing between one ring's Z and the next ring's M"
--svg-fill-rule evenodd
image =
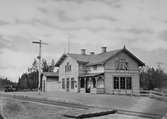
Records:
M105 53L94 54L94 55L82 55L82 54L63 54L61 58L56 63L56 66L59 66L67 56L75 59L79 63L85 63L87 66L92 65L103 65L106 61L110 58L115 57L117 54L125 52L127 53L132 59L134 59L139 66L145 65L141 60L139 60L135 55L133 55L129 50L125 47L118 50L113 50Z

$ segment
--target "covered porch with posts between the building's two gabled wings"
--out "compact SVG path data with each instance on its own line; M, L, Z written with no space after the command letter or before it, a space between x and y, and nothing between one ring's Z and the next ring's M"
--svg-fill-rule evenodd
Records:
M79 92L103 94L104 93L104 73L90 73L80 75Z

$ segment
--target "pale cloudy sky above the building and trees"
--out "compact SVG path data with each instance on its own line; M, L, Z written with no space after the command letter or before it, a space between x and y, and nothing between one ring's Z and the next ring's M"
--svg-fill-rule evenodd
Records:
M129 49L146 65L167 72L167 0L0 0L0 76L17 81L42 57Z

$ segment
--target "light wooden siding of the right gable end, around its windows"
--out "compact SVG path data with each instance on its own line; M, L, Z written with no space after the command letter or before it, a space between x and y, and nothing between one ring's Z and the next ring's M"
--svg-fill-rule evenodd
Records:
M128 70L116 70L115 63L119 58L125 58L128 61ZM105 71L105 93L112 93L113 91L113 77L114 76L130 76L132 77L132 90L139 90L139 71L138 71L138 64L135 62L131 57L129 57L125 53L120 53L116 57L108 60L105 63L104 67ZM121 92L121 90L119 90ZM122 90L122 93L125 90Z

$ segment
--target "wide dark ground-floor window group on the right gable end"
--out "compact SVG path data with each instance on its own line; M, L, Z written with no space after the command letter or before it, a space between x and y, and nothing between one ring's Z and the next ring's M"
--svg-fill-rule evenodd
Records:
M114 77L114 89L132 89L131 77Z

